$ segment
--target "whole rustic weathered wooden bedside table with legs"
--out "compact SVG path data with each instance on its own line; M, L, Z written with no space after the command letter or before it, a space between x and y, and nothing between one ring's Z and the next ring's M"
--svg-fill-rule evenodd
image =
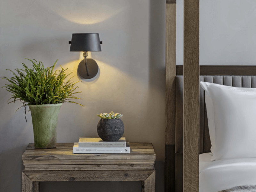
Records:
M22 155L22 192L39 192L39 181L142 181L142 192L155 192L152 143L130 143L130 154L73 154L73 145L36 149L30 143Z

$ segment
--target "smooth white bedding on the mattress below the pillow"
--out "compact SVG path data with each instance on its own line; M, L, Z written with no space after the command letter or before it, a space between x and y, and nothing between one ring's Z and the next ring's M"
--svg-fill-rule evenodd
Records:
M199 155L199 192L217 192L256 185L256 158L211 161L212 153Z

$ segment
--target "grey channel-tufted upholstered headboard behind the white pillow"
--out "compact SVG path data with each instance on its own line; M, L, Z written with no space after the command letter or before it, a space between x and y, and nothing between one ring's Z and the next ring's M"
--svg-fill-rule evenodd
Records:
M200 76L200 81L233 87L256 88L256 76ZM204 90L200 87L199 153L211 152L211 141L204 102ZM175 152L183 153L183 76L176 76L176 135Z

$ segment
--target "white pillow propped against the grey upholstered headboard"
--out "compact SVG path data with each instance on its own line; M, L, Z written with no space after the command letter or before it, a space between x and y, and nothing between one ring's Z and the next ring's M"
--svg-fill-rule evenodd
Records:
M212 161L256 157L256 89L200 84L209 96L205 103ZM214 123L211 123L212 118Z

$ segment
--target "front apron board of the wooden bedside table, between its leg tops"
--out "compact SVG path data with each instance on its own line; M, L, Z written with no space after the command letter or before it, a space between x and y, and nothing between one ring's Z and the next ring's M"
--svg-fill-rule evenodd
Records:
M141 181L154 170L25 171L32 181Z

